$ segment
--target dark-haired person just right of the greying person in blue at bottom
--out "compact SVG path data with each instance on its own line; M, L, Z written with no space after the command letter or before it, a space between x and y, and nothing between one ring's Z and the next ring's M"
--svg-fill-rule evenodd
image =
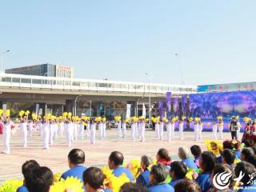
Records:
M178 182L186 178L186 165L183 162L172 162L170 164L170 186L174 187Z

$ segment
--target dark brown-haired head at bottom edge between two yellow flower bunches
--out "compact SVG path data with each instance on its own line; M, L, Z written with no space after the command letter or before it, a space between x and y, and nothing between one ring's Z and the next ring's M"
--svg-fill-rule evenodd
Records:
M104 186L105 175L98 167L90 167L85 170L82 174L82 179L86 192L112 192L112 190Z

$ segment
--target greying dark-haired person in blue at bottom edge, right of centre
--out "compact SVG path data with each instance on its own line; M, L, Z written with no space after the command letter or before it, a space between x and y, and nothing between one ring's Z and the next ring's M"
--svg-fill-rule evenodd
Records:
M150 170L150 192L174 192L174 188L166 184L166 166L158 163L152 166Z

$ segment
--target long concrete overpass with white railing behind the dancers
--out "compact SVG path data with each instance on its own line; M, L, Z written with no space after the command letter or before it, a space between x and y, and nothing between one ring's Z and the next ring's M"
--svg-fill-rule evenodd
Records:
M178 86L143 82L118 82L82 78L52 78L21 74L0 74L0 101L62 105L74 111L79 101L122 101L138 103L166 101L166 92L173 95L197 92L197 86Z

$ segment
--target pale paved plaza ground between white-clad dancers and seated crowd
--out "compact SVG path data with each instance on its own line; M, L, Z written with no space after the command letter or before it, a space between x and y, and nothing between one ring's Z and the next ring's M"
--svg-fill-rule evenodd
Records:
M65 138L59 137L50 146L50 150L42 150L42 141L38 132L35 131L31 139L28 140L28 146L22 148L21 136L18 133L11 135L10 154L0 154L0 182L9 178L22 178L22 163L29 159L35 159L42 166L48 166L54 173L63 172L68 169L67 154L73 148L80 148L86 153L86 165L106 165L111 151L119 150L124 156L126 162L130 159L140 158L142 154L148 154L155 158L159 148L166 148L170 151L172 158L177 157L178 147L190 147L194 144L202 146L205 150L204 139L213 138L212 133L204 132L203 139L195 142L193 132L184 133L184 141L178 140L178 132L175 132L175 138L171 142L158 141L154 138L153 130L146 130L146 142L132 141L130 139L130 130L127 130L127 138L117 137L117 130L107 130L105 141L98 141L91 145L89 140L78 140L72 143L71 147L66 146ZM165 133L166 134L166 133ZM225 139L230 138L230 134L224 134ZM2 134L0 135L0 148L2 149Z

